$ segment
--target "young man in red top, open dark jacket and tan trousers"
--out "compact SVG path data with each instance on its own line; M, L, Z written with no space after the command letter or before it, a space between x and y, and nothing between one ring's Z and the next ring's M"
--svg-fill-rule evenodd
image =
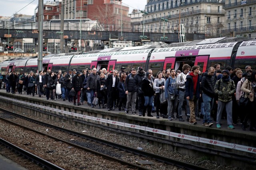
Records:
M198 105L198 99L200 98L200 82L201 76L199 74L200 66L192 66L191 72L186 78L185 83L185 95L189 103L190 118L189 123L196 125L195 109Z

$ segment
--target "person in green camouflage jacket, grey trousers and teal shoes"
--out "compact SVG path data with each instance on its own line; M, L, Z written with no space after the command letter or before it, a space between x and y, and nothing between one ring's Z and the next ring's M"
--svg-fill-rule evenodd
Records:
M217 128L221 128L220 119L224 107L226 107L228 129L234 129L232 125L232 94L236 92L235 83L230 79L230 71L223 70L222 78L214 86L214 92L218 94Z

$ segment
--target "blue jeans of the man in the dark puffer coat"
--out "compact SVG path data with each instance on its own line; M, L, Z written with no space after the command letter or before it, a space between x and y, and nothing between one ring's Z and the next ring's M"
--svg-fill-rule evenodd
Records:
M202 94L202 98L203 98L203 103L204 104L204 120L203 123L212 123L212 119L211 119L211 110L213 107L213 102L214 102L214 98L211 98L210 96L208 96L207 94L203 93ZM201 107L201 113L202 113L202 107Z

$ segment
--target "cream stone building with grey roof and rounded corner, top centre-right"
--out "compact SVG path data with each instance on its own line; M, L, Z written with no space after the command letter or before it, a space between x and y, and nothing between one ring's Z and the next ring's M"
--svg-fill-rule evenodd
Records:
M148 0L145 31L177 33L184 24L185 33L218 37L224 27L224 4L225 0Z

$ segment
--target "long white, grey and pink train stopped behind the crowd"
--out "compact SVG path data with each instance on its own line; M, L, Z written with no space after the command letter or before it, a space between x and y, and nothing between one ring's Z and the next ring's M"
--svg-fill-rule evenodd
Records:
M50 54L43 57L42 68L44 72L48 69L53 72L68 72L70 69L82 71L94 67L97 70L106 68L108 71L124 67L125 71L130 71L142 66L144 70L151 69L154 75L168 68L182 70L183 64L199 65L201 72L205 72L216 63L220 64L221 69L231 66L233 69L243 70L247 65L256 68L256 40L221 43L225 38L195 41L176 47L144 45L109 48L85 54ZM37 69L37 57L10 59L0 64L2 75L14 70L28 74L30 71L38 72Z

